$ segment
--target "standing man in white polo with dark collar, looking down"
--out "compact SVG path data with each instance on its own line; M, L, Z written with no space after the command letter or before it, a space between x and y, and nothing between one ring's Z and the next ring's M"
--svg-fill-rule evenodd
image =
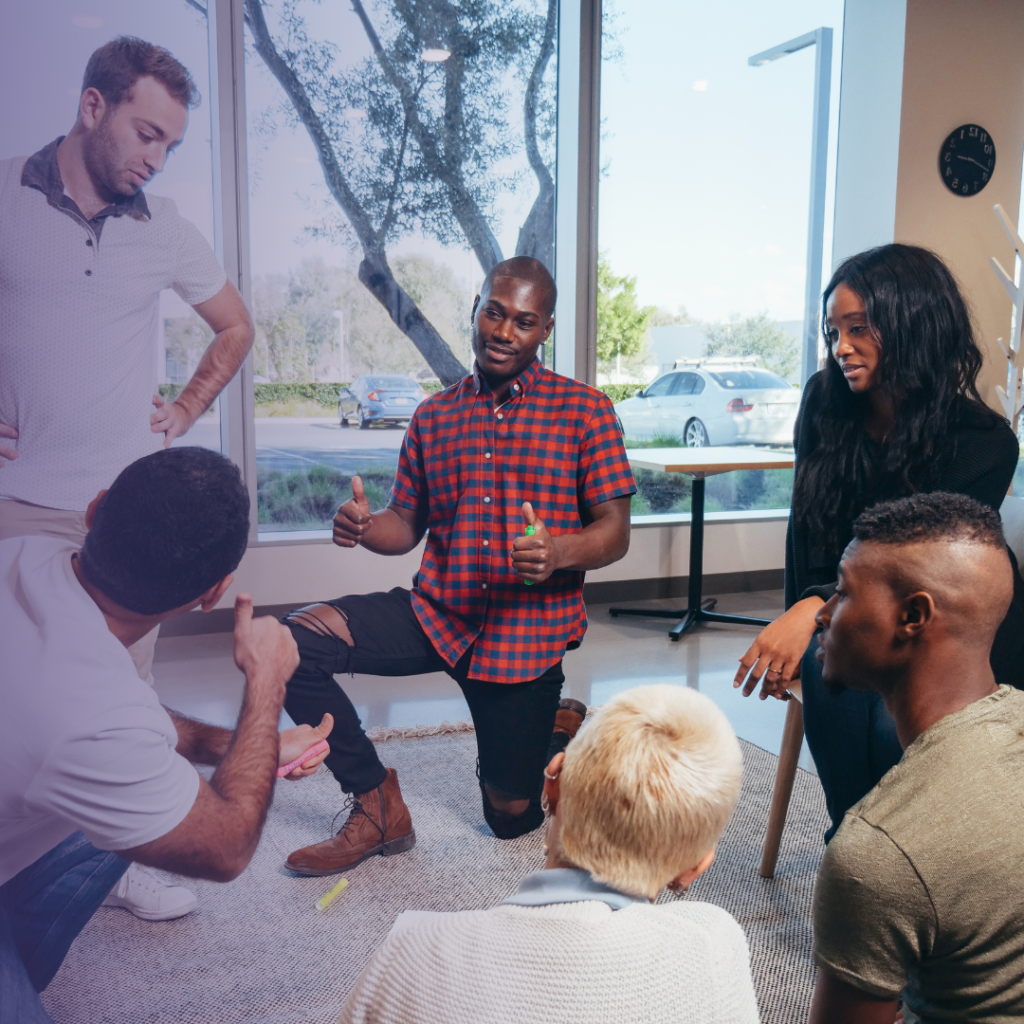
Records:
M252 319L210 246L173 202L141 190L198 101L167 50L115 39L89 59L68 135L0 161L0 540L81 546L96 492L185 433L252 345ZM215 332L170 403L154 395L167 288ZM154 630L131 649L151 684L156 641ZM133 868L112 899L150 920L195 906L187 890L161 888Z

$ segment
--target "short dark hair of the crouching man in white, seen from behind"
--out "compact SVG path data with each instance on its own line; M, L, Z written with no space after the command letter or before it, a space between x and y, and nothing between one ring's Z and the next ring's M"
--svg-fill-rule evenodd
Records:
M141 615L189 604L233 572L249 538L238 467L202 447L133 462L96 509L79 552L86 580Z

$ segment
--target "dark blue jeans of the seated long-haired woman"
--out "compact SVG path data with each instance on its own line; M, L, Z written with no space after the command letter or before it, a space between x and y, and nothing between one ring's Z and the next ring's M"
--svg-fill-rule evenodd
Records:
M845 690L833 696L825 689L817 649L815 634L800 663L800 682L804 734L831 818L827 843L843 823L843 815L874 788L903 756L903 748L896 737L896 723L878 693Z

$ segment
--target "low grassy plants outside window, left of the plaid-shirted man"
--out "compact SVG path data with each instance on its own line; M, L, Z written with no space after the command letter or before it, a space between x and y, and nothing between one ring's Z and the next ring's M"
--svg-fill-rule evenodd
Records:
M256 503L264 530L330 529L338 506L352 497L352 476L362 486L373 511L384 508L394 469L371 466L357 474L339 472L330 466L282 473L260 469L256 474Z

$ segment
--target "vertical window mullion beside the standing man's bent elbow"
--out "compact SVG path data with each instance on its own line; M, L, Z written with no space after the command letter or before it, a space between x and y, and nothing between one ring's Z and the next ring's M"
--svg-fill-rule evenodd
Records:
M251 309L243 0L209 0L208 11L215 248L228 280ZM249 490L250 543L257 540L258 521L254 417L250 352L220 395L221 451L239 467Z

